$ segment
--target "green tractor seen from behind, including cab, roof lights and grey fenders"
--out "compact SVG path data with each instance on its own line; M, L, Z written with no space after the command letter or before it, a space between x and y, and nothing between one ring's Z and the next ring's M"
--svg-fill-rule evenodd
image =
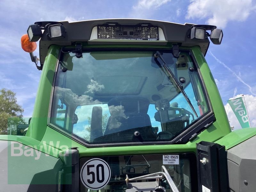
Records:
M231 132L204 58L221 29L106 19L40 21L27 32L22 48L42 75L26 135L0 136L5 189L256 188L256 129Z

